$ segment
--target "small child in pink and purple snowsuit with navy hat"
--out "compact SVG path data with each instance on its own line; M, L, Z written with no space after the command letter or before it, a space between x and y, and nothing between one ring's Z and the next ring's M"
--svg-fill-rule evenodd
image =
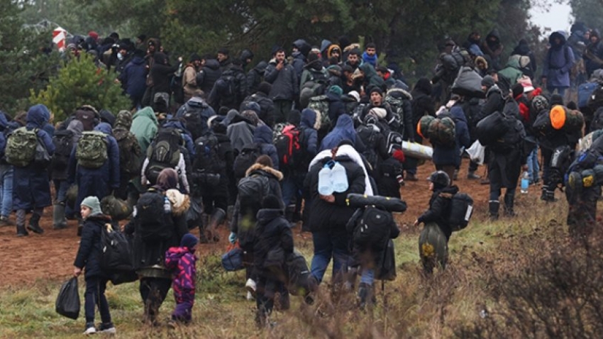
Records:
M187 233L180 240L180 247L170 248L165 252L165 267L172 271L174 277L172 289L176 299L176 309L172 312L172 321L168 325L174 327L177 322L189 323L194 304L195 277L197 275L197 250L199 239Z

